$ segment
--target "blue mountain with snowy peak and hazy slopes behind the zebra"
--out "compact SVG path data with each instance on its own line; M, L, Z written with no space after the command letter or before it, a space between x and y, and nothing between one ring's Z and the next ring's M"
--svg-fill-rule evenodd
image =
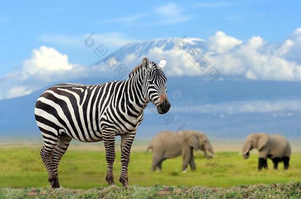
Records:
M113 55L120 63L133 68L141 57L149 55L151 51L168 56L175 53L177 48L209 51L202 39L174 38L127 44ZM99 84L127 78L114 73L114 69L108 68L104 60L91 67L105 67L107 72L70 82ZM212 81L205 74L179 77L173 75L173 67L181 65L170 64L166 67L171 67L171 72L167 72L167 90L172 109L166 115L158 115L151 111L153 105L149 104L145 119L138 128L138 138L151 138L161 130L180 129L200 130L216 139L243 139L249 133L260 131L280 133L290 138L301 137L300 84L252 81L223 74ZM45 89L22 97L0 100L0 137L40 137L34 119L34 107L38 96Z

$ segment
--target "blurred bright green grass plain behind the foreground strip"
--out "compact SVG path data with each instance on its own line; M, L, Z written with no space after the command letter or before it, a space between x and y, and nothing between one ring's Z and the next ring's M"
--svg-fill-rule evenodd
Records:
M150 152L145 154L143 151L133 151L129 165L129 183L130 185L152 186L152 188L140 189L141 192L143 192L143 189L148 189L151 192L152 189L159 189L153 187L155 185L231 187L301 180L300 153L292 154L291 167L288 171L283 171L282 163L279 164L278 171L272 170L270 160L268 160L269 170L257 171L257 154L251 154L248 160L244 160L238 155L238 152L219 152L216 155L218 158L206 160L200 153L197 153L195 157L196 171L188 169L187 173L182 173L182 158L178 157L164 161L161 172L152 172L150 170L152 154ZM106 187L108 186L105 180L106 165L103 151L67 151L59 166L60 185L73 189ZM114 176L117 186L120 186L118 182L119 174L120 154L117 152L114 163ZM0 148L0 187L49 187L47 173L39 157L39 148ZM138 188L134 186L131 189ZM176 189L176 187L171 189ZM192 188L185 189L193 192ZM2 194L7 190L17 192L13 189L2 189ZM105 192L103 189L97 190ZM19 191L30 192L26 189ZM36 191L48 194L52 192L48 189L37 189ZM66 192L72 191L66 190ZM86 192L80 191L80 193L84 195ZM1 195L0 198L2 198Z

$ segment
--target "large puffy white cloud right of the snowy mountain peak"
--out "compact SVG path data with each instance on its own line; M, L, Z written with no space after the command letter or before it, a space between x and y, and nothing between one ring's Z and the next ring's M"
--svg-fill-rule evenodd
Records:
M258 36L241 42L235 38L229 39L225 33L216 35L213 42L209 39L208 48L217 55L207 54L206 57L222 74L243 75L253 80L301 81L298 57L288 60L286 57L289 55L284 53L288 52L284 48L291 46L287 45L288 40L279 47L268 44ZM300 48L301 43L297 46Z

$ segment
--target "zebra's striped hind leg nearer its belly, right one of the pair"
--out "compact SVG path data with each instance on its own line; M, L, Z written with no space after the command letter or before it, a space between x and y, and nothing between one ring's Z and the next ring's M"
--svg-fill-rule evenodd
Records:
M61 135L59 139L59 143L56 145L52 155L52 168L56 175L56 181L54 182L54 187L60 187L59 183L59 175L58 175L58 166L60 164L62 156L65 154L70 141L72 140L71 137L67 135Z

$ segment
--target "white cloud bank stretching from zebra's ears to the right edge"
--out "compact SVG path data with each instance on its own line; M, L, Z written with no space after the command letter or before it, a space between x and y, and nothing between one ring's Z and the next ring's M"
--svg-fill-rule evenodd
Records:
M189 41L189 38L186 40ZM196 44L192 47L199 52L197 57L204 56L211 66L220 71L221 76L238 76L251 80L301 81L301 28L294 31L280 45L268 43L260 36L242 41L217 31L209 37L204 46ZM200 71L196 66L197 60L191 61L188 58L188 49L162 49L152 48L145 54L154 58L166 57L168 75L206 75L206 70Z

